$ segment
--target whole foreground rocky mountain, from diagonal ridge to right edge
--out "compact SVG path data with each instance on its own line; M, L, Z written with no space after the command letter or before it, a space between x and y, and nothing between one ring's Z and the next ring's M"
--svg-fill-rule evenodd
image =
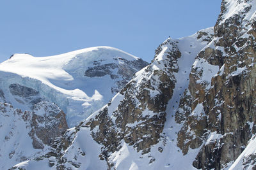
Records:
M223 0L214 27L166 39L108 104L12 169L255 169L255 57L256 0Z

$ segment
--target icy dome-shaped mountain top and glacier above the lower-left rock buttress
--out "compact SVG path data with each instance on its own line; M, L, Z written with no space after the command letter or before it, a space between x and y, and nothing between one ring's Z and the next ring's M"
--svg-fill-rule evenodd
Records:
M147 64L108 46L51 57L15 54L0 64L0 101L23 111L43 100L56 103L73 127L108 103Z

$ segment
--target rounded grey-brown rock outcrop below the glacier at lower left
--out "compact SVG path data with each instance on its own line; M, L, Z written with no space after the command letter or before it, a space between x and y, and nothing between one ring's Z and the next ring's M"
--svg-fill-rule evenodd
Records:
M33 139L34 148L44 148L42 143L51 145L56 137L61 136L68 129L65 113L56 104L46 101L36 104L32 115L26 112L22 118L26 121L29 119L31 124L29 136Z

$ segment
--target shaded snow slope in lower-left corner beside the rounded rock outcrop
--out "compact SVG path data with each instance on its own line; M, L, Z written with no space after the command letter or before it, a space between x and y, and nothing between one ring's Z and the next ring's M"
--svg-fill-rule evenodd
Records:
M26 128L19 110L3 103L0 103L0 110L0 169L8 169L42 150L33 149L28 135L30 129Z

